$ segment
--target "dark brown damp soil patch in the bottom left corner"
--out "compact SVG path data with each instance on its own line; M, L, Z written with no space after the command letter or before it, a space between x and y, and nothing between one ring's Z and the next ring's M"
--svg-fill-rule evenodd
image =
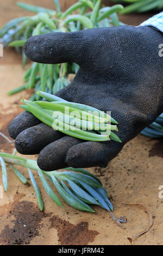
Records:
M24 195L23 195L24 196ZM14 202L0 206L0 216L7 214L8 217L14 217L11 221L14 227L5 225L0 234L1 245L28 245L35 236L39 235L42 218L51 216L39 210L39 206L32 202L18 202L23 197L17 194Z

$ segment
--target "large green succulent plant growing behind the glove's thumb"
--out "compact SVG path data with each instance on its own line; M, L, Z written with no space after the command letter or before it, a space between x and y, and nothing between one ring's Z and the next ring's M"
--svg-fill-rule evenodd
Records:
M18 52L22 53L22 65L24 67L27 57L22 52L22 47L30 36L122 25L116 12L122 10L123 6L116 4L112 7L101 8L101 2L101 0L79 0L64 13L60 10L58 0L54 0L57 10L18 2L16 3L18 7L33 11L36 15L9 21L0 30L0 42L3 46L15 47ZM24 89L35 88L35 93L30 97L30 100L40 100L40 95L36 94L38 90L55 94L67 86L68 74L76 74L78 69L79 66L76 63L55 65L33 63L24 74L23 86L11 90L8 94L12 95Z

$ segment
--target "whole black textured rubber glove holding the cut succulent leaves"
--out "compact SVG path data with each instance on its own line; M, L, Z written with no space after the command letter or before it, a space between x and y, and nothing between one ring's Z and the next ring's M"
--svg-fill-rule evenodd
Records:
M56 95L111 111L122 143L89 142L65 136L23 112L9 126L21 154L39 154L43 170L106 167L123 145L163 111L163 36L152 27L121 26L33 36L24 46L39 63L76 62L80 69Z

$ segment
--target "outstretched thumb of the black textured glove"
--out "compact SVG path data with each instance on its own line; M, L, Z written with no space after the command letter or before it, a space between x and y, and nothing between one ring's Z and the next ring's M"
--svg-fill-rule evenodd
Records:
M64 62L82 62L86 32L49 33L29 38L23 51L34 62L57 64Z

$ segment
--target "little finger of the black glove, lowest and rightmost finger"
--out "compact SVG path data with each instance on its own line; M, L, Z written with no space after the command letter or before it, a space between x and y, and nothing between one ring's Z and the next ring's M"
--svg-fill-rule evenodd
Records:
M68 150L65 162L74 168L106 167L122 148L122 143L114 141L83 142Z

